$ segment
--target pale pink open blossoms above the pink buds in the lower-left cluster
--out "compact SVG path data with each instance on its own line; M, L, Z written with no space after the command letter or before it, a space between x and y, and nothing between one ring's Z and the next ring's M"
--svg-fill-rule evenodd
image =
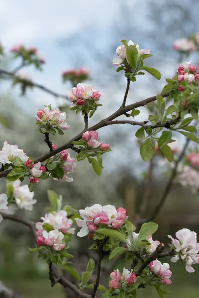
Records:
M59 229L63 233L74 234L75 228L71 227L73 221L68 219L68 214L65 210L60 210L58 212L51 212L45 214L44 217L41 218L43 222L36 223L37 234L42 235L44 229L44 224L50 224L52 229Z

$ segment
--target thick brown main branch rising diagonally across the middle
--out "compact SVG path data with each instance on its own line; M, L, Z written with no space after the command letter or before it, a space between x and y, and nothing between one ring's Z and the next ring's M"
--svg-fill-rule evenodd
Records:
M163 95L163 97L167 97L169 95L169 92L165 93ZM144 100L141 100L141 101L138 101L138 102L135 102L135 103L132 103L130 105L127 105L125 107L120 107L116 112L114 112L113 114L111 114L109 117L101 120L99 123L95 124L94 126L88 128L88 131L91 131L91 130L98 130L104 126L107 125L107 121L112 121L113 119L125 114L126 112L132 110L132 109L135 109L135 108L138 108L138 107L141 107L141 106L145 106L147 105L148 103L152 102L152 101L155 101L156 100L156 96L152 96L152 97L149 97L149 98L146 98ZM73 141L79 141L81 138L82 138L82 134L85 132L85 130L83 130L80 134L78 134L76 137L74 137L73 139L71 139L69 142L65 143L64 145L54 149L52 152L47 152L45 154L43 154L42 156L38 157L35 159L35 163L37 162L42 162L48 158L50 158L51 156L65 150L65 149L68 149L68 148L71 148L73 149L73 145L72 145L72 142ZM73 149L74 150L74 149ZM10 170L6 170L6 171L3 171L3 172L0 172L0 177L6 177L7 174L10 172Z

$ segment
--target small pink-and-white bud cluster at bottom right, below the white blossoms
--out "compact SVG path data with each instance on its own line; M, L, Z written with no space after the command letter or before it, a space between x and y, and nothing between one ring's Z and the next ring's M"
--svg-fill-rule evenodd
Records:
M151 272L160 277L163 285L170 285L172 281L170 277L172 272L169 270L170 266L168 263L162 264L160 261L155 260L149 264Z

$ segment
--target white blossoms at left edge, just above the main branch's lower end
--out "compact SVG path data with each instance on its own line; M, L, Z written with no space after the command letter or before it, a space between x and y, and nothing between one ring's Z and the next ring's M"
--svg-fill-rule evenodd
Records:
M2 164L13 162L14 157L19 157L23 162L28 160L28 156L22 149L18 149L16 145L9 145L7 142L3 143L3 148L0 151L0 162Z

